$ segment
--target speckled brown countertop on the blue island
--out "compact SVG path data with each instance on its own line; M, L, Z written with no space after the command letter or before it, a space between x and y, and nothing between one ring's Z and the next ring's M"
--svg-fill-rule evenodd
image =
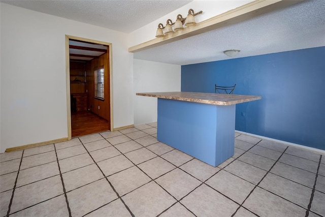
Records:
M207 92L137 92L136 95L219 106L229 106L262 99L261 96L211 94Z

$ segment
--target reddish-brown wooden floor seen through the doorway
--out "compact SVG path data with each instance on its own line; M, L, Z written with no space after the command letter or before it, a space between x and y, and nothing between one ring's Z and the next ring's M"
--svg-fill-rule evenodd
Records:
M71 113L72 137L84 136L109 130L109 122L88 111Z

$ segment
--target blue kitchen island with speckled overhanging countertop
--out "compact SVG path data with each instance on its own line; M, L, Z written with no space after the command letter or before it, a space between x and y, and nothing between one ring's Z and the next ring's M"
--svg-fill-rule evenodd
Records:
M236 104L259 96L144 92L158 98L157 140L217 166L234 155Z

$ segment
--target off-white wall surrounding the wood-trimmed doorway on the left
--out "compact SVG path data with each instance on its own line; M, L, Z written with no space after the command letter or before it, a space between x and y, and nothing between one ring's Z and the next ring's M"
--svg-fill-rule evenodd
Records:
M0 152L68 137L65 35L112 43L114 128L133 124L126 34L4 3L0 10Z

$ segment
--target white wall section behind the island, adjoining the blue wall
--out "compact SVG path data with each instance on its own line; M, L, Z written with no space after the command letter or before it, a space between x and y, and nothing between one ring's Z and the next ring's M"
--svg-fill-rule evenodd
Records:
M136 92L181 90L181 66L134 59L134 124L157 121L157 98Z

